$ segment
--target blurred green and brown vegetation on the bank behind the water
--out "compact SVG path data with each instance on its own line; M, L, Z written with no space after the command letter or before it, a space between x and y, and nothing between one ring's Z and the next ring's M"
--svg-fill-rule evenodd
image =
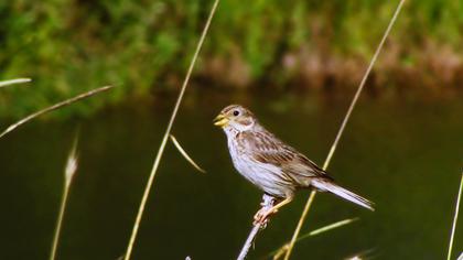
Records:
M1 1L0 80L34 82L26 89L2 89L0 116L23 116L108 84L118 86L111 95L74 105L69 112L87 113L127 97L176 89L211 4L212 0ZM310 87L316 86L313 76L326 75L358 82L397 4L223 0L195 79L244 87ZM462 13L462 1L408 2L377 71L389 78L418 67L432 71L432 78L445 72L444 80L456 80L457 73L449 76L448 71L461 69Z

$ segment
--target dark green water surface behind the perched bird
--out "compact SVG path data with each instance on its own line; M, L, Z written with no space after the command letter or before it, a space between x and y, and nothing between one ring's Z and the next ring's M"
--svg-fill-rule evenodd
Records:
M247 105L281 139L322 164L352 97L246 96L187 95L173 133L207 174L166 148L133 259L237 256L261 194L234 171L225 134L212 124L222 107ZM85 120L34 121L0 140L0 258L49 257L62 172L77 127L79 169L58 259L121 256L173 101L126 105ZM377 210L319 194L303 234L345 218L360 220L301 241L293 259L344 259L366 250L373 259L443 259L462 155L460 97L360 99L330 172L374 201ZM249 259L261 259L291 237L308 194L300 193L272 219ZM456 231L460 252L463 223Z

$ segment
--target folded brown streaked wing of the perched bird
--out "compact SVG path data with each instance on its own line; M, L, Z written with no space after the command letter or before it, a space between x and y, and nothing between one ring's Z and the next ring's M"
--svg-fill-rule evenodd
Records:
M269 132L241 134L246 134L244 140L247 142L247 151L250 151L248 155L258 162L280 167L284 174L298 183L306 183L308 177L331 178L314 162Z

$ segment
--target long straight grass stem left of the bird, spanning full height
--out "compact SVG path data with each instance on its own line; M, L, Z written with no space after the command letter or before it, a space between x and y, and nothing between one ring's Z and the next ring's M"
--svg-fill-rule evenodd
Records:
M173 122L175 121L175 117L176 117L176 113L179 111L180 104L182 102L183 95L185 94L186 86L189 85L190 77L192 75L194 64L196 63L197 56L200 55L200 51L201 51L201 48L203 46L203 43L204 43L204 40L205 40L205 37L207 35L207 31L209 29L212 19L213 19L213 17L215 14L215 11L217 9L218 2L219 2L219 0L215 0L214 4L212 7L211 13L209 13L209 15L207 18L206 24L205 24L205 26L203 29L203 32L201 34L200 42L197 43L196 51L195 51L195 53L193 55L193 58L192 58L192 61L190 63L190 67L189 67L189 71L186 73L185 79L183 80L182 88L180 90L179 98L176 99L174 109L172 111L172 116L171 116L171 118L169 120L168 128L165 129L164 137L162 138L161 144L159 147L158 154L157 154L157 156L154 159L153 167L152 167L151 173L150 173L150 176L148 178L148 183L147 183L147 186L144 188L143 196L141 198L141 203L140 203L140 206L139 206L139 209L138 209L137 218L134 220L133 229L132 229L132 232L130 235L130 240L129 240L129 243L127 246L127 251L126 251L125 260L129 260L130 259L130 256L132 253L133 243L134 243L136 238L137 238L138 229L140 227L140 221L141 221L142 216L143 216L144 207L147 205L148 196L150 194L151 186L153 184L154 176L155 176L155 173L157 173L158 167L159 167L159 163L161 162L162 154L164 153L164 148L165 148L165 144L168 142L169 134L171 133L171 129L172 129Z

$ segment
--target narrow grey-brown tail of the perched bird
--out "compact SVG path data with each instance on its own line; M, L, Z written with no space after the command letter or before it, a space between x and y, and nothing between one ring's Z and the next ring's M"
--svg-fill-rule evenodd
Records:
M311 185L314 186L315 188L323 191L323 192L331 192L346 201L349 201L352 203L355 203L357 205L360 205L363 207L368 208L369 210L374 212L375 208L373 208L374 203L372 203L370 201L353 193L349 192L338 185L336 185L335 183L333 183L330 180L323 180L323 178L315 178L312 180Z

